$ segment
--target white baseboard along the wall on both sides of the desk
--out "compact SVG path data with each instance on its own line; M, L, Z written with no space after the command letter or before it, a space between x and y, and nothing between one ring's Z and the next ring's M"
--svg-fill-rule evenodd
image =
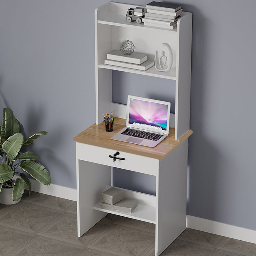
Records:
M57 196L68 200L76 201L76 189L62 187L55 184L45 186L37 180L29 179L32 185L32 191L43 193L50 196ZM224 224L221 222L206 220L195 216L187 215L186 227L201 230L204 232L227 236L234 239L256 244L256 231Z

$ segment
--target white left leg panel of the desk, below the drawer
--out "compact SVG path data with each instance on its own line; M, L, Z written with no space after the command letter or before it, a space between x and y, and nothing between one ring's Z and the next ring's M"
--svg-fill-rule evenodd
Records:
M77 235L81 237L107 215L92 207L101 200L101 193L111 184L111 169L102 164L76 161Z

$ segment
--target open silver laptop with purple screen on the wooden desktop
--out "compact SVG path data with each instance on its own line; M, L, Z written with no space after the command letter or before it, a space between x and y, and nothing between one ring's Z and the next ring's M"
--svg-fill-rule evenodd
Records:
M171 103L128 95L126 127L111 139L155 147L169 134Z

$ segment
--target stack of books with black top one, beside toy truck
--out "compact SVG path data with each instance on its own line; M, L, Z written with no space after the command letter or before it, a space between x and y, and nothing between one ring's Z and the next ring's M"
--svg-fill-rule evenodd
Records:
M145 26L160 28L176 28L177 20L182 13L180 4L151 2L146 5Z

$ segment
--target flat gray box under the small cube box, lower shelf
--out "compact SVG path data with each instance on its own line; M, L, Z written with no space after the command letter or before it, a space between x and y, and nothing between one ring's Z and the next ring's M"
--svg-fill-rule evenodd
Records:
M116 212L132 213L132 211L137 207L138 201L135 199L124 198L123 200L117 202L114 205L100 203L100 207L105 210L112 210Z

